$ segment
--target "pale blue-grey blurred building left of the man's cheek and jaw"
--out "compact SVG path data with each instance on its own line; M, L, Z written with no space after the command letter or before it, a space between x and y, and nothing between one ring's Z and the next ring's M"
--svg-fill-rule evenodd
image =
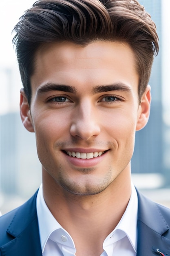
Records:
M35 134L28 132L19 112L0 116L0 192L30 196L41 182Z

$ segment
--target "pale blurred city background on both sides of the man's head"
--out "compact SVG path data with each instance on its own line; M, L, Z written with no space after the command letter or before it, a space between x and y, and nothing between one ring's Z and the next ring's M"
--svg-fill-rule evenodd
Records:
M34 133L20 121L20 74L11 31L33 0L1 1L0 8L0 211L26 201L41 183ZM157 25L159 55L150 85L148 125L136 134L132 180L152 200L170 207L170 1L139 0Z

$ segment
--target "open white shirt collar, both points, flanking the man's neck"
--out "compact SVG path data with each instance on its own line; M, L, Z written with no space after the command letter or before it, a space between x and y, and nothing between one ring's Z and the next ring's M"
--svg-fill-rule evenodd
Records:
M103 247L107 247L110 244L113 244L124 238L128 237L130 244L132 245L135 252L137 251L137 210L138 210L138 199L137 192L132 184L132 192L130 196L130 200L128 202L128 206L126 207L126 211L119 221L117 227L110 233L110 235L104 240ZM62 228L62 226L57 222L57 220L52 215L51 211L47 207L42 191L42 184L40 185L40 189L37 195L37 215L38 215L38 224L40 231L40 241L42 252L44 251L44 247L46 245L47 240L50 238L54 240L53 237L60 238L60 240L56 240L57 243L64 243L64 238L67 239L67 246L75 248L73 239L68 234L66 230ZM45 222L44 222L45 220ZM56 236L57 232L57 236ZM54 236L55 234L55 236Z

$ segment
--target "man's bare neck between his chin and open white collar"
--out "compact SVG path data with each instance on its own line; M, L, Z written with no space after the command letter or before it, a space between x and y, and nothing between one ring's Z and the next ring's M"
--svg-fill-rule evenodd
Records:
M119 223L131 195L130 172L124 171L96 195L73 195L57 185L48 173L43 173L44 200L55 219L73 238L76 255L82 252L82 246L92 250L95 245L102 250L104 239Z

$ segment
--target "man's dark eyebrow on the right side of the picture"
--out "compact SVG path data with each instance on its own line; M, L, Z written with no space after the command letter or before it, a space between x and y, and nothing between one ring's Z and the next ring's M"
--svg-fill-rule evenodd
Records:
M124 84L124 83L115 83L112 85L97 85L93 89L93 93L100 93L100 92L109 92L109 91L124 91L124 92L130 92L132 89L130 86Z

